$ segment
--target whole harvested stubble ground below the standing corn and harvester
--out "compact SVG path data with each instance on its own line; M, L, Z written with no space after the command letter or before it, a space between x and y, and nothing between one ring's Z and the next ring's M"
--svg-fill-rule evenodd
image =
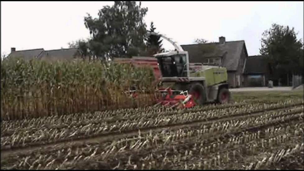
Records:
M304 169L303 92L1 124L2 169Z

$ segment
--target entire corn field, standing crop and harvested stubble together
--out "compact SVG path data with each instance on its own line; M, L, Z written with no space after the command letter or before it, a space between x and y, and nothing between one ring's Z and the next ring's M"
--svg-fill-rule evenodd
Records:
M132 99L153 72L100 62L1 63L1 169L304 169L296 92L191 109Z

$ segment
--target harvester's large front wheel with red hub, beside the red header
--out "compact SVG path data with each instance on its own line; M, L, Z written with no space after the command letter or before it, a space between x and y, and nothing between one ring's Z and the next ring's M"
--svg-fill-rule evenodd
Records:
M191 84L189 88L189 94L194 96L194 100L198 105L205 104L206 102L205 88L200 83Z

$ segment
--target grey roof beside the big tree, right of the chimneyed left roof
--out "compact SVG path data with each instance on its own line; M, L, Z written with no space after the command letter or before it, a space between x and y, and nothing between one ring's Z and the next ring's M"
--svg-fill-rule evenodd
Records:
M77 55L77 53L77 48L45 50L39 55L39 58L51 60L69 60L73 59Z

